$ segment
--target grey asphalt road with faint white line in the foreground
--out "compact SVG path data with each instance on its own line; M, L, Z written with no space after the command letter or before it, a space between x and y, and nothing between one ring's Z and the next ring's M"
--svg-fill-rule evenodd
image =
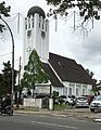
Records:
M101 130L101 122L36 114L0 116L0 130Z

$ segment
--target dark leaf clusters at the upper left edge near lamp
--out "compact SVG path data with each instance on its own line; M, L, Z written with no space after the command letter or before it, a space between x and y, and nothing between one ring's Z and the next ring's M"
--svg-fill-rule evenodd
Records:
M11 6L5 6L5 2L1 2L0 3L0 16L4 15L4 16L10 16L9 12L11 10ZM3 24L0 24L0 32L3 32L3 29L5 28L5 26Z

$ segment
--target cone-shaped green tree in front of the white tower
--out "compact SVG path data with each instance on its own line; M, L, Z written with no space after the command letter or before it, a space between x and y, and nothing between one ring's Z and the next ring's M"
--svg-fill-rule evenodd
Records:
M42 63L39 60L36 50L31 51L28 63L24 67L24 70L25 72L21 80L21 84L23 88L35 90L35 86L37 83L47 83L49 80L49 76L45 73L42 68Z

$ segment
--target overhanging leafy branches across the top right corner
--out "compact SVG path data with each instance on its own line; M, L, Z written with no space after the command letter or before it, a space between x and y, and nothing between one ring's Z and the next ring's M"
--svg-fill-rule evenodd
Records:
M100 0L46 0L48 4L54 5L55 9L50 9L48 16L53 15L56 18L58 14L67 16L68 10L76 8L79 11L79 16L84 17L84 22L88 20L100 20L99 10L101 9ZM83 22L83 23L84 23Z

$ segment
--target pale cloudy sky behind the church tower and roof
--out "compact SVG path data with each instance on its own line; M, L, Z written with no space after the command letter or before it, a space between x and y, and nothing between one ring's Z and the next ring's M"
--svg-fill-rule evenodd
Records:
M0 0L2 2L3 0ZM48 13L50 6L47 5L46 0L4 0L5 5L11 5L11 17L4 20L8 22L14 36L14 51L15 51L15 68L18 69L20 56L23 56L23 20L26 17L28 10L34 5L39 5ZM18 16L20 13L20 26ZM101 20L91 22L87 25L88 32L78 27L74 31L74 13L70 11L67 18L59 17L56 22L50 17L50 36L49 36L49 51L68 58L75 60L81 64L85 69L93 72L97 80L101 80ZM76 14L76 26L80 22ZM17 29L20 27L20 29ZM12 60L12 41L10 32L4 31L0 35L0 69L3 68L2 63ZM22 61L23 62L23 61Z

